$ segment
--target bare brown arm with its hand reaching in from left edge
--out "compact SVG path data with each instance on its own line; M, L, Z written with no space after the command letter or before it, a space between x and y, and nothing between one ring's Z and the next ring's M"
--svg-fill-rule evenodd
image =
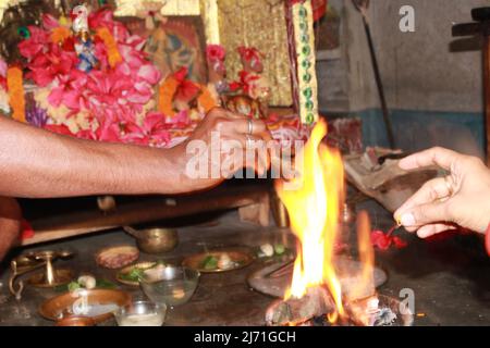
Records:
M264 122L254 121L253 128L254 137L269 137ZM0 196L56 198L203 190L223 178L192 179L185 175L188 141L209 145L210 134L219 132L224 139L244 142L247 129L247 119L215 109L185 144L156 149L76 139L0 116Z

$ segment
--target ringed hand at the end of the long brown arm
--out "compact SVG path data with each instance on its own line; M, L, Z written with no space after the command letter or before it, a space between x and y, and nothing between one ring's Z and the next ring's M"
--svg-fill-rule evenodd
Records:
M194 191L216 186L244 167L264 175L277 158L273 145L265 122L216 108L177 147L182 183ZM257 150L247 151L250 147Z

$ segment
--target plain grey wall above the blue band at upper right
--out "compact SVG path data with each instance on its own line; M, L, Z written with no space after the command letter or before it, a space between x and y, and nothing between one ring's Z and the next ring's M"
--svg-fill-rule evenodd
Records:
M318 63L320 105L330 111L379 108L360 14L350 0L331 0L343 17L340 61ZM416 32L399 29L402 5L415 9ZM488 0L371 0L369 16L390 109L481 112L481 53L452 51L453 23ZM339 90L339 86L345 90ZM332 91L334 92L329 92Z

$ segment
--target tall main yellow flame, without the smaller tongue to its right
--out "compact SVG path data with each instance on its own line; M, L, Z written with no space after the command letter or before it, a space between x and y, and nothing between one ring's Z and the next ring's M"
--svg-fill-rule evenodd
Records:
M296 170L301 175L287 183L292 186L278 182L277 189L301 241L285 299L302 298L310 287L327 286L336 307L336 313L329 319L336 321L344 315L341 283L333 266L344 200L344 170L340 153L321 144L326 135L327 124L320 121L298 153L303 169Z

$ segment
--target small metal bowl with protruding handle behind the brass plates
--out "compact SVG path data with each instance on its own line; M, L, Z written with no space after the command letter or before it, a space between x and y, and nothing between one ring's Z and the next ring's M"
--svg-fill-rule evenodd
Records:
M172 251L179 244L176 229L152 227L147 229L124 228L133 237L143 252L163 253Z

